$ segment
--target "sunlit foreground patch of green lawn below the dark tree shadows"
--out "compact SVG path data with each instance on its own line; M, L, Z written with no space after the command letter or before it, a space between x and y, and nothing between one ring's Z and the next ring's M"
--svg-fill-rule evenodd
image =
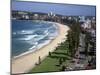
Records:
M56 66L57 64L59 64L57 58L47 57L40 65L33 68L31 72L59 71L59 67Z

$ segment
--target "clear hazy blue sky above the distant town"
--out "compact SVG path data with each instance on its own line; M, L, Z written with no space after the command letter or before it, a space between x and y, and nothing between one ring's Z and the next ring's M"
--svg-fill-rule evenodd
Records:
M12 10L61 14L66 16L95 16L96 6L12 1Z

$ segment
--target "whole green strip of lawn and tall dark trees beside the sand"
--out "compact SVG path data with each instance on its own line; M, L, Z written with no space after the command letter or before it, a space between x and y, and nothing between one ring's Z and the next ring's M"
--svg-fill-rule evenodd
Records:
M53 72L64 71L65 65L69 65L72 57L79 46L80 25L78 21L74 21L70 25L70 30L65 42L61 43L54 52L49 52L39 65L34 67L29 73L33 72Z

